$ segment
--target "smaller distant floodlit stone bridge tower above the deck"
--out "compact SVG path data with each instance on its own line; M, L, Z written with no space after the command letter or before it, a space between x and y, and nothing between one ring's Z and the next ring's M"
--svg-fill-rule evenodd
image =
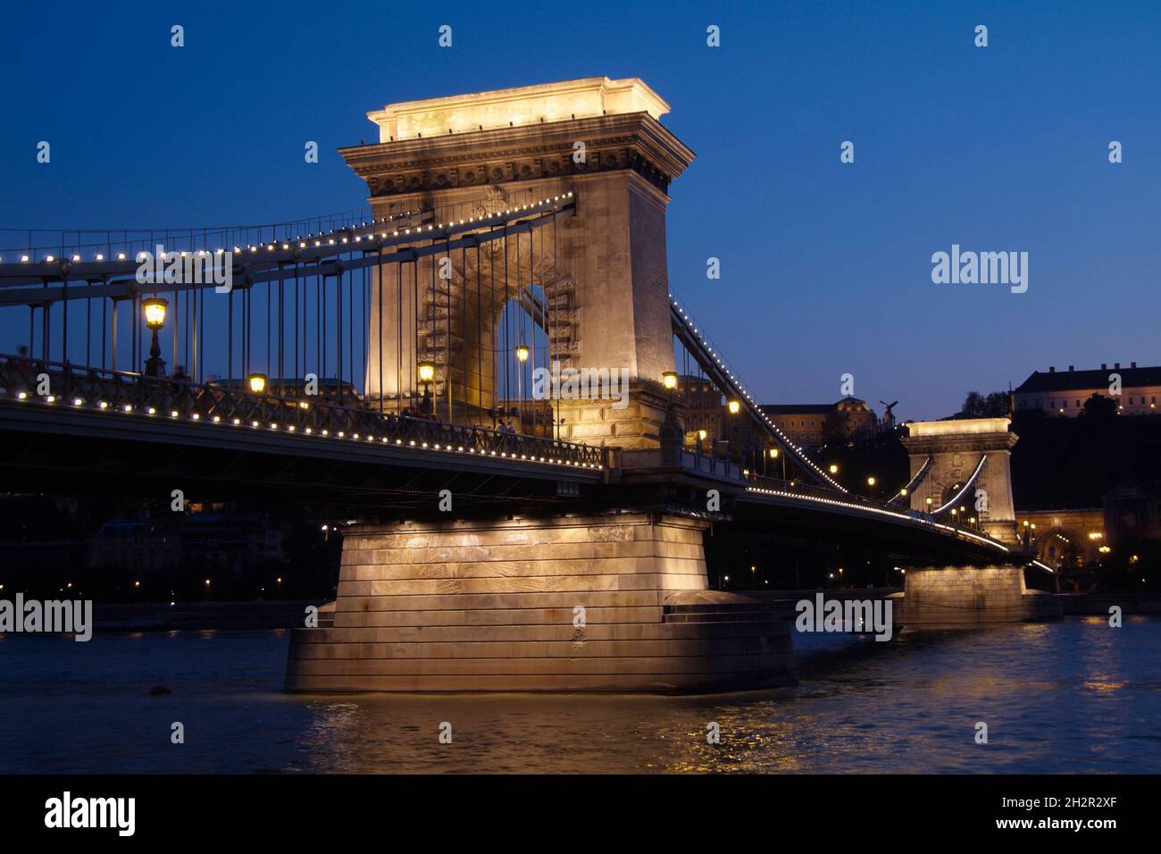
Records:
M911 478L928 458L930 471L910 495L911 509L930 511L942 507L967 483L980 459L987 455L975 483L964 495L961 504L980 521L990 537L1015 543L1016 508L1012 501L1011 448L1019 438L1010 430L1008 418L958 418L954 421L920 421L909 423L909 437L903 445L911 458ZM986 504L980 504L978 490L983 490ZM982 496L981 496L982 497ZM931 503L928 503L928 500Z

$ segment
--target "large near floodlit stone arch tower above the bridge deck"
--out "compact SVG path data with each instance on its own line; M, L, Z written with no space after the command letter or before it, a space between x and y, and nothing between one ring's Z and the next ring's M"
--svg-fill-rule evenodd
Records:
M492 243L482 257L453 253L452 280L431 295L401 286L384 267L384 281L372 288L368 366L381 358L375 325L382 311L385 367L382 382L368 368L368 396L411 400L413 366L426 359L437 366L437 400L464 407L474 419L495 407L493 345L505 308L496 294L513 293L498 281L507 261L533 271L550 303L551 361L623 368L630 378L628 407L562 401L560 438L656 446L666 402L662 373L673 369L665 207L670 181L693 159L661 124L668 112L636 78L596 77L369 113L378 143L341 153L367 181L376 217L433 209L446 222L568 192L576 193L576 213L560 220L555 239L525 236L506 249ZM419 260L413 275L431 281L435 263ZM439 307L427 304L434 302Z

